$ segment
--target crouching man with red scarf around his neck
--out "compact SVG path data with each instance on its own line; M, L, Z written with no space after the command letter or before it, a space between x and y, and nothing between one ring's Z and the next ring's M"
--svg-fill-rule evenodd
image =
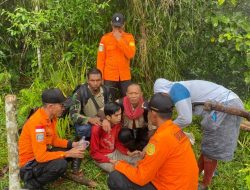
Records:
M118 100L123 108L123 128L119 138L130 151L141 151L155 129L155 126L148 123L148 111L142 108L144 102L141 87L136 83L130 84L126 96Z

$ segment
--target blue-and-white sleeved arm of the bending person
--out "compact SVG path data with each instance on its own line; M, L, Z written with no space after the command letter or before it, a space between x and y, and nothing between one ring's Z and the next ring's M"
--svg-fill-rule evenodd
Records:
M175 83L172 86L169 95L175 104L178 114L174 123L181 128L184 128L192 122L193 113L190 92L184 85Z

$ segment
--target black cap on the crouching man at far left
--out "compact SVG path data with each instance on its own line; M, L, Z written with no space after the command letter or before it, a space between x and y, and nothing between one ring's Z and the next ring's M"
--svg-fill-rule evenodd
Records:
M51 104L63 104L67 98L59 88L46 89L42 93L42 102Z

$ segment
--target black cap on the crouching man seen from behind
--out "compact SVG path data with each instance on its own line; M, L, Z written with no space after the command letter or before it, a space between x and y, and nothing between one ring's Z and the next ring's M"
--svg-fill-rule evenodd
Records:
M174 104L168 94L156 93L144 107L159 113L170 113L173 111Z

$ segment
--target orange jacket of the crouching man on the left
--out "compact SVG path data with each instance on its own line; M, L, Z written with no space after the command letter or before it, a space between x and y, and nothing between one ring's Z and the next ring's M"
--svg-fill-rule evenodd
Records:
M56 133L56 122L48 118L43 108L39 108L24 124L19 138L19 166L28 161L48 162L63 158L63 151L48 152L47 145L66 148L68 141L60 139Z

